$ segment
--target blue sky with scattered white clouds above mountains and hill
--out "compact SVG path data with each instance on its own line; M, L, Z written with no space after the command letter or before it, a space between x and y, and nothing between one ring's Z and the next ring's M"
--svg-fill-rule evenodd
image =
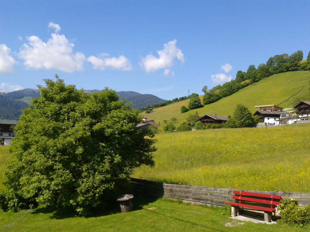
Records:
M58 74L78 89L202 94L310 50L310 1L0 1L0 89Z

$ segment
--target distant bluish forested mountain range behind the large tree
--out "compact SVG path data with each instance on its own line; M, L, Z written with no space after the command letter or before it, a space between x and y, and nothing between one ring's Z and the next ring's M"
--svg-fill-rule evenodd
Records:
M85 90L86 93L100 92L101 90ZM134 91L120 91L117 92L119 95L119 101L123 98L127 102L131 101L133 104L131 108L139 109L156 103L161 103L166 100L156 97L152 94L141 94ZM2 118L19 118L21 110L28 108L31 99L34 97L40 97L39 89L22 89L13 92L6 92L0 90L0 117Z

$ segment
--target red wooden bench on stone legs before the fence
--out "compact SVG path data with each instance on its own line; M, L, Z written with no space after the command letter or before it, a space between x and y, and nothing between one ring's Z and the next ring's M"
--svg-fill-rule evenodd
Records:
M233 191L232 199L239 200L238 202L224 202L232 206L232 217L239 216L239 207L257 209L264 211L265 223L271 222L272 212L275 212L275 205L280 204L281 196L269 195L262 193Z

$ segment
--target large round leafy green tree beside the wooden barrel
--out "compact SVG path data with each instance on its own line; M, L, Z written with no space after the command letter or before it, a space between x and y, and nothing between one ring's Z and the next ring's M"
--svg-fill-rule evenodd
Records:
M73 206L86 214L113 199L134 168L153 165L153 133L111 89L86 94L45 79L23 111L4 176L2 208Z

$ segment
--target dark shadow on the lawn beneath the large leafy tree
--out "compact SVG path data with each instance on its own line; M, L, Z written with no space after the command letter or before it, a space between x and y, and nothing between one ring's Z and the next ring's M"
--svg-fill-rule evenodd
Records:
M142 210L143 205L152 203L156 201L158 198L159 197L136 195L133 199L133 211ZM103 217L111 214L121 213L121 210L119 207L119 203L117 201L110 201L108 202L104 210L100 208L95 208L93 209L91 215L86 216L79 215L72 207L55 208L52 206L45 206L42 208L35 209L31 214L38 214L38 213L51 213L52 215L50 216L50 219L64 219L71 217L85 217L85 218Z

